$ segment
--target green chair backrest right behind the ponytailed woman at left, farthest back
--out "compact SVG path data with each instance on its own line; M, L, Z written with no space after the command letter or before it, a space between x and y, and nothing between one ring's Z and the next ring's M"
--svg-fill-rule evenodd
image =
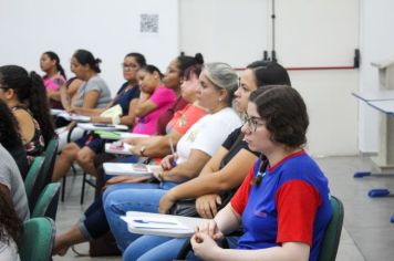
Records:
M53 173L54 161L56 159L58 145L59 145L58 138L52 138L46 145L44 152L44 161L40 175L38 176L37 181L34 182L32 194L29 199L32 202L31 209L34 209L35 202L39 199L40 194L44 189L44 187L52 181L52 173Z

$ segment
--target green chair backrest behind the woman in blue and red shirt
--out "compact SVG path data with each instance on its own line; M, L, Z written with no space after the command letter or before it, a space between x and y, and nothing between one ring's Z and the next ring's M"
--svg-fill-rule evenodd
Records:
M334 261L340 244L344 216L343 203L340 199L332 196L331 206L332 217L324 232L318 259L319 261Z

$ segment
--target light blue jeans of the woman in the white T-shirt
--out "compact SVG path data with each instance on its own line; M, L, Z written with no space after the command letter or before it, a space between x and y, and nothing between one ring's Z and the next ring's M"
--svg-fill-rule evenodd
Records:
M120 184L110 186L104 192L104 211L117 247L124 251L139 234L128 232L127 225L121 219L127 211L157 212L158 203L175 182L160 184Z

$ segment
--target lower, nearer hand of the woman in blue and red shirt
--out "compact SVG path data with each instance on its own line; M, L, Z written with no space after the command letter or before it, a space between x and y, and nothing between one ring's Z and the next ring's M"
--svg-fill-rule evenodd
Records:
M203 260L217 259L217 252L221 250L214 239L204 232L196 232L191 237L190 243L195 254Z

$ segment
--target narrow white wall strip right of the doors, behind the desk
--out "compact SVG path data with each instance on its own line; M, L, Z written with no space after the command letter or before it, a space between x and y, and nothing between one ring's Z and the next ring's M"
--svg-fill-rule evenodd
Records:
M371 62L380 62L394 55L394 1L361 0L362 65L360 91L377 90L377 69ZM379 112L360 103L360 150L377 152Z

